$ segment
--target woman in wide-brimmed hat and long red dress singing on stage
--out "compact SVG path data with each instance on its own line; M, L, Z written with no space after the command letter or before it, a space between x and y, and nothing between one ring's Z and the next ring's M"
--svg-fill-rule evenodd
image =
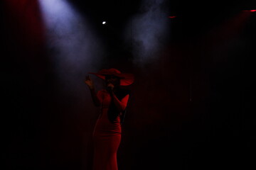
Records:
M117 170L117 149L121 140L121 123L129 100L129 91L120 86L134 82L132 74L122 74L117 69L102 69L95 74L105 80L105 89L95 92L89 76L85 84L90 89L92 101L100 108L93 132L94 160L93 170Z

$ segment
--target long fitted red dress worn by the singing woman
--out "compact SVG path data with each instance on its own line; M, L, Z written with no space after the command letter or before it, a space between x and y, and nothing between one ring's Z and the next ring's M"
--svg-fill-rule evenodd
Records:
M111 96L106 90L98 91L97 97L101 102L101 113L93 132L94 159L93 170L117 170L117 149L121 141L120 115L110 121ZM122 98L127 105L129 94Z

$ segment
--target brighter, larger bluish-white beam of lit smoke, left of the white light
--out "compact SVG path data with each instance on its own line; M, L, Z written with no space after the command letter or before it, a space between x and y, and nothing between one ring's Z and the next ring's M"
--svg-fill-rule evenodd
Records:
M96 72L104 49L97 34L67 1L40 0L49 55L65 91L80 94L87 72Z

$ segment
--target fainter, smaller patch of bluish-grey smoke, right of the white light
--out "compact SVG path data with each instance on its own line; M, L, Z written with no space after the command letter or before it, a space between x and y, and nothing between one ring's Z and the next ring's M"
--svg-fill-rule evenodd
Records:
M134 62L153 60L168 38L168 11L165 0L142 1L139 13L131 18L125 39L132 45Z

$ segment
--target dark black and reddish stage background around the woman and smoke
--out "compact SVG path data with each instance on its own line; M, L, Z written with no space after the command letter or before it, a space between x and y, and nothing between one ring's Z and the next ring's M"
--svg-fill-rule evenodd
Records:
M71 2L105 41L110 57L100 61L102 68L136 78L128 87L119 169L255 167L256 13L241 14L256 8L253 1L167 1L169 16L177 17L164 50L143 67L133 64L136 56L120 38L130 16L142 12L140 1ZM97 110L90 98L80 101L60 89L37 3L31 4L24 10L1 1L5 167L90 169ZM114 21L111 29L102 27L104 18Z

